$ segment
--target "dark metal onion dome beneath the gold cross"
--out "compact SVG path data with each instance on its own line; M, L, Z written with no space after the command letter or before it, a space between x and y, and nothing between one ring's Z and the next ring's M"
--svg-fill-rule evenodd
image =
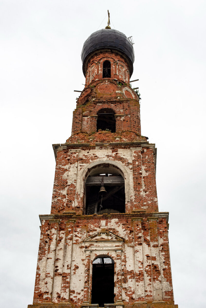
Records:
M130 40L122 32L114 29L102 29L92 33L89 38L84 42L81 60L83 63L82 69L85 76L86 70L85 65L89 56L97 50L101 49L113 49L121 52L128 63L130 64L128 69L130 71L130 77L133 73L133 63L134 63L134 49Z

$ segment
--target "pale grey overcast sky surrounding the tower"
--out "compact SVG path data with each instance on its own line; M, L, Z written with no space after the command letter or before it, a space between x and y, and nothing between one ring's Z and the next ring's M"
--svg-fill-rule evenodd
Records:
M157 147L159 210L169 211L175 303L205 307L206 2L2 0L1 306L33 301L39 214L50 213L51 144L71 134L85 82L81 49L110 11L134 39L142 135ZM107 25L107 18L99 27ZM99 30L98 29L98 30ZM1 277L2 277L1 275Z

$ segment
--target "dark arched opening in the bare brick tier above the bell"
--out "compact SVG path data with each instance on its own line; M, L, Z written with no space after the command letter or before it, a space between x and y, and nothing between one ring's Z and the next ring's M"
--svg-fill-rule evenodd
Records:
M97 112L97 132L99 129L102 131L116 132L116 120L114 111L109 108L100 109Z

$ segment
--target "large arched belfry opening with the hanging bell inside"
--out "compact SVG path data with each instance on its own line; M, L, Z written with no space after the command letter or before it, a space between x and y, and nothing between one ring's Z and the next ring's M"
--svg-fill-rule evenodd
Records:
M90 170L85 193L86 215L125 213L125 180L112 164L99 164Z

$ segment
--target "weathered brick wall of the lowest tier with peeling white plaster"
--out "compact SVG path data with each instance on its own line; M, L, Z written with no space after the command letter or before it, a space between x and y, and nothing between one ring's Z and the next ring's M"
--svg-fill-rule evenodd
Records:
M36 280L36 287L39 288L36 288L34 304L66 301L78 307L83 300L90 300L92 261L98 256L98 251L92 251L89 258L85 257L85 249L89 250L94 245L94 243L87 243L85 239L95 233L105 232L111 232L123 239L121 254L111 250L107 252L115 262L114 279L117 297L115 299L120 297L117 286L121 281L123 290L121 299L125 305L134 304L137 300L140 302L164 301L167 306L173 302L167 213L89 216L65 213L49 215L47 218L49 218L50 230L49 237L46 238L50 247L48 250L45 248L39 250L42 257L38 260L41 266L44 266L41 271L46 274L41 283L42 288L39 280ZM101 226L102 221L105 222L104 227ZM42 226L44 225L48 234L48 220L42 220ZM118 245L117 242L116 246ZM105 250L103 252L105 253ZM43 264L44 257L47 261ZM118 259L121 259L122 263L121 274L116 268ZM50 273L48 273L49 269ZM52 275L54 278L51 277ZM58 278L57 281L55 277ZM157 284L162 285L162 293L154 295L154 290L159 292ZM86 294L85 285L88 286Z

